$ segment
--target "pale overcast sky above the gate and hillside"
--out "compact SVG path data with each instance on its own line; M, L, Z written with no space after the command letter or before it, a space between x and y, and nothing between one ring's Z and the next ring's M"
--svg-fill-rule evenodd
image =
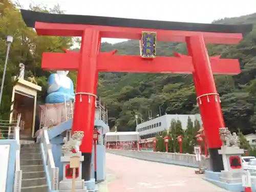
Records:
M211 23L219 18L256 12L255 0L18 0L18 2L25 9L28 9L32 2L49 7L59 4L66 14L193 23ZM104 39L103 41L115 43L123 40Z

